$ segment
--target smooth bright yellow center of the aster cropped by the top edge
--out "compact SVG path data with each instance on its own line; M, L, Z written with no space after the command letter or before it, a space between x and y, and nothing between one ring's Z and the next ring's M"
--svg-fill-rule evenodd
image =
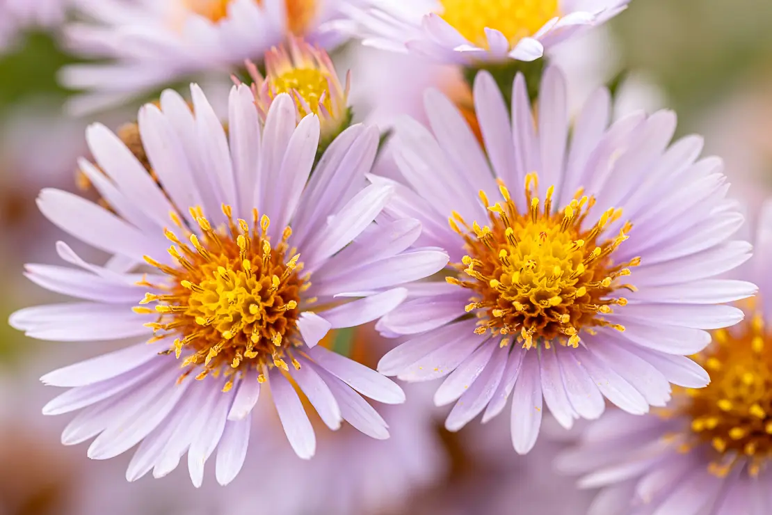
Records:
M485 29L501 32L511 45L533 36L559 15L558 0L442 0L442 19L470 42L488 48Z

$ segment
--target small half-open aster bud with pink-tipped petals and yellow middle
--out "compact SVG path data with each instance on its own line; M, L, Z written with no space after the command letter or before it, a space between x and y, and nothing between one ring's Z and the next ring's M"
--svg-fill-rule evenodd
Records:
M289 38L287 46L289 51L280 46L266 53L265 77L254 63L246 63L254 81L252 93L259 114L265 119L276 96L289 93L295 100L298 120L307 114L316 114L320 118L322 141L331 141L351 121L348 107L350 73L344 87L330 56L323 49L294 37Z

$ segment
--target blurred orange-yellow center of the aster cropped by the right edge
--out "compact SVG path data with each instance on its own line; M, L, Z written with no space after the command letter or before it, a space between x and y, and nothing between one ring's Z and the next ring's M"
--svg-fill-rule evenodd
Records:
M720 454L710 470L720 476L738 457L756 476L772 458L772 335L760 315L731 330L716 330L713 344L695 357L710 374L705 388L679 388L681 411L698 442Z

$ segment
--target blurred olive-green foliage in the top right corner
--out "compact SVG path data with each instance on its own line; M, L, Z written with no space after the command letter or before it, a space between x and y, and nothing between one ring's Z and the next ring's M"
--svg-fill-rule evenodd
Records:
M630 69L644 69L689 117L772 66L769 0L632 0L612 22Z

